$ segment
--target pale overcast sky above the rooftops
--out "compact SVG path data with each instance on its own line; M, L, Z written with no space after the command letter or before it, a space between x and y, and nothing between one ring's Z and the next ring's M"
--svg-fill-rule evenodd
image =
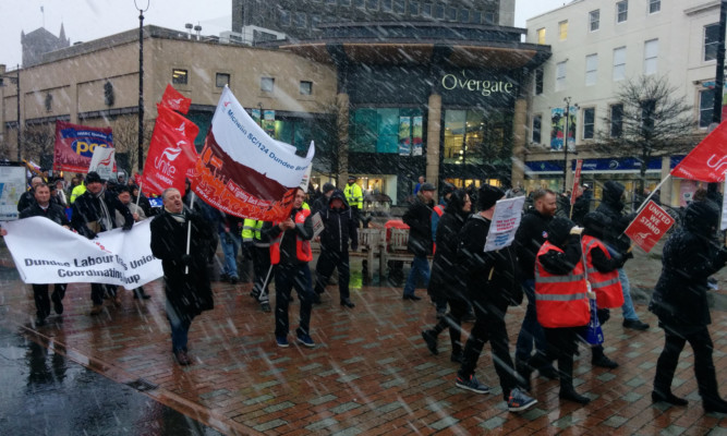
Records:
M570 0L568 0L570 1ZM148 10L144 24L184 31L185 23L202 26L204 35L219 35L231 26L230 0L136 0ZM565 0L516 0L516 26L561 7ZM0 0L0 63L9 69L22 62L21 32L38 27L58 36L61 23L71 44L138 28L134 0ZM43 8L43 12L41 12Z

